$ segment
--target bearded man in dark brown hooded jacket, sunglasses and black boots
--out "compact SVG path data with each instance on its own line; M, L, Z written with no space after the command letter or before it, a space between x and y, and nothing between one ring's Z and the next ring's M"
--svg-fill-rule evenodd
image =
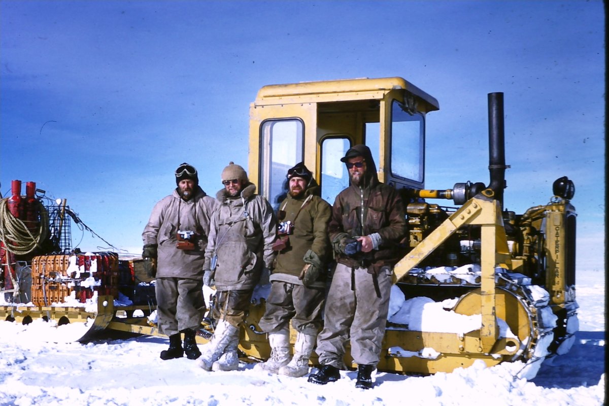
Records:
M336 197L328 226L337 265L317 337L320 368L309 382L324 385L340 378L350 340L355 386L369 389L387 324L393 265L405 253L406 214L398 192L379 182L368 147L355 145L340 161L351 186Z

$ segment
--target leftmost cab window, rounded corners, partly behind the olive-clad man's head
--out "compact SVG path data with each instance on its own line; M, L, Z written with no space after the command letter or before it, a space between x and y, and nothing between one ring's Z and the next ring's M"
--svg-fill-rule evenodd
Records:
M267 120L261 126L260 194L277 210L287 195L287 170L303 161L300 119Z

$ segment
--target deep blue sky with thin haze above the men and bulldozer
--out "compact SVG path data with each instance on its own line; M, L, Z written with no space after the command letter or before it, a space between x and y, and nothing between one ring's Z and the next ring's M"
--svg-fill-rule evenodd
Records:
M35 181L121 250L186 161L215 195L273 83L401 76L436 97L426 186L488 184L505 94L505 207L576 184L577 265L605 264L602 1L0 1L0 191ZM74 245L106 249L72 225ZM98 248L100 247L100 248Z

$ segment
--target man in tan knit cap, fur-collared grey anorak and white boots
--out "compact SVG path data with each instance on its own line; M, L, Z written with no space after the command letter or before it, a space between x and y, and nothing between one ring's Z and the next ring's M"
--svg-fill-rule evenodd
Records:
M216 284L214 335L202 347L199 366L207 371L231 371L239 366L239 326L245 321L252 293L272 268L277 223L273 208L245 170L230 163L222 171L219 206L211 218L205 251L203 283Z

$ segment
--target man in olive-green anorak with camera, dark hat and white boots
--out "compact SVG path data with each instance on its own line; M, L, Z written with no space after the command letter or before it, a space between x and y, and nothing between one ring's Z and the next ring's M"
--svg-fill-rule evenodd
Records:
M289 169L287 180L289 191L277 215L281 224L271 290L258 324L269 334L271 357L255 369L299 377L309 373L309 357L323 323L331 206L317 195L320 188L305 164ZM294 357L290 320L297 331Z

